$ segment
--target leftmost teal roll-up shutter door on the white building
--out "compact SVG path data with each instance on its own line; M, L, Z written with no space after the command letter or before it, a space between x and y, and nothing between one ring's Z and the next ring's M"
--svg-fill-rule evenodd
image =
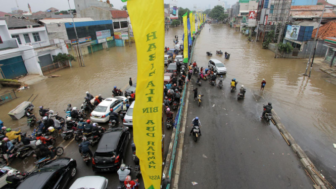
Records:
M3 65L1 69L6 79L13 79L28 73L21 56L0 60L0 65Z

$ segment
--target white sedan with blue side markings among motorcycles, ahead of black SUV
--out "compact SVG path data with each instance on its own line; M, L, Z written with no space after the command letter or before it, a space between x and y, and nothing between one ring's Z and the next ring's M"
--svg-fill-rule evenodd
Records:
M107 98L103 102L99 103L97 107L91 112L90 119L93 122L105 123L110 120L110 109L113 108L113 111L118 113L121 110L121 105L123 102L127 102L126 97L114 97Z

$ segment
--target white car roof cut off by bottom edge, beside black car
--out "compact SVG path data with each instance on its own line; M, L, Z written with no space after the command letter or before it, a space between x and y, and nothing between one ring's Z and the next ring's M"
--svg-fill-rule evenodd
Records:
M69 189L94 188L107 189L109 180L103 176L84 176L77 178Z

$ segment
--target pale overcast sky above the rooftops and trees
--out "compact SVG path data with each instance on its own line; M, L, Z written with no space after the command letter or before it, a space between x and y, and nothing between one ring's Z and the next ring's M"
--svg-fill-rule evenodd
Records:
M21 10L25 10L28 11L28 3L31 7L31 11L32 12L37 12L37 11L45 11L51 7L54 7L56 9L59 10L68 10L69 9L69 5L68 5L68 0L16 0L19 4L19 8ZM103 0L104 2L106 0ZM220 0L223 2L227 2L228 4L234 4L235 2L237 2L237 0ZM6 2L6 3L5 3ZM169 0L164 0L165 3L169 3ZM190 10L193 9L194 4L197 4L198 8L201 9L205 9L209 7L209 5L211 6L211 8L213 8L215 5L217 5L218 0L179 0L178 1L178 7L182 7L182 8L188 8ZM1 3L1 8L0 11L3 12L11 12L12 9L11 8L15 8L16 7L16 3L15 0L0 0ZM110 3L112 3L114 5L114 7L116 9L120 9L120 7L126 5L126 3L122 3L120 0L110 0ZM336 4L336 0L328 0L328 3L331 4ZM74 9L74 2L73 0L70 0L70 6L72 9Z

